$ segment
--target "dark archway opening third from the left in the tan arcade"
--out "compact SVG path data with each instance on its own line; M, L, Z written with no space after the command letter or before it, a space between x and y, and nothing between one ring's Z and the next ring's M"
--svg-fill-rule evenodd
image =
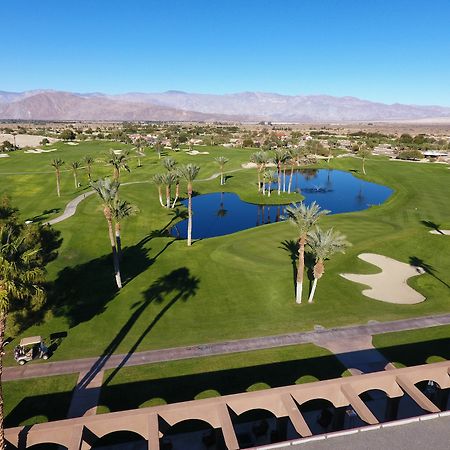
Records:
M224 449L225 441L221 428L213 428L208 422L188 419L172 426L160 426L161 450L205 450Z

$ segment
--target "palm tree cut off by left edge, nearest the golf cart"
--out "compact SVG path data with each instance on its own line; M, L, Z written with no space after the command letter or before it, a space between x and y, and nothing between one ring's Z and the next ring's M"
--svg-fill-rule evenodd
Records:
M45 299L40 245L27 238L25 225L14 216L5 219L0 224L0 449L6 448L1 376L8 313L12 305L42 304Z

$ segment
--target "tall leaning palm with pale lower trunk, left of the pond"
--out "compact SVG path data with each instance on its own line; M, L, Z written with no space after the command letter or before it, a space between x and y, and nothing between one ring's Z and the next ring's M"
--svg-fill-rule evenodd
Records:
M104 178L91 183L91 186L95 192L97 192L100 201L102 202L103 214L108 224L108 235L113 255L114 275L117 287L121 289L122 279L120 275L119 257L113 232L113 205L118 198L120 183L117 180L111 181L109 178Z

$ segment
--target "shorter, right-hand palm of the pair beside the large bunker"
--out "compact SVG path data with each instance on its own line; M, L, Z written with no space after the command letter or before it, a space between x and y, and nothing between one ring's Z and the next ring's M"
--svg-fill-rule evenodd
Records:
M316 227L308 233L308 246L311 248L315 259L313 270L314 281L308 303L312 303L316 292L317 281L325 273L324 261L335 253L345 253L345 249L350 245L346 237L339 231L333 231L333 228L324 231Z

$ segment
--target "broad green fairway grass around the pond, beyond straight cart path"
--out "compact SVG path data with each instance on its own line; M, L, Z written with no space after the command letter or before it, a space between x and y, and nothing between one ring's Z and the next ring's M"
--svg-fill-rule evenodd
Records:
M63 195L56 197L50 167L54 157L64 159L67 169L72 160L86 154L100 160L108 148L123 145L84 142L53 147L58 151L41 155L14 152L0 161L0 173L49 172L0 175L2 191L13 196L24 218L62 209L81 192L74 189L72 174L64 172ZM215 156L226 155L230 159L226 170L232 171L241 169L252 152L206 149L209 155L189 156L183 151L170 155L180 163L199 164L199 178L206 179L218 172ZM124 182L147 181L163 171L155 154L144 158L142 168L136 164L132 159L131 173L121 176ZM321 164L352 170L358 176L361 166L354 158ZM122 198L140 210L122 226L124 288L117 292L114 287L106 222L97 199L89 197L74 217L55 226L63 240L58 258L48 267L48 308L25 334L48 338L51 333L67 332L52 358L62 360L312 330L318 324L332 327L448 312L450 238L428 233L430 222L450 225L447 166L371 159L366 161L366 170L365 179L387 185L395 193L382 206L321 220L321 226L333 226L346 234L353 246L345 255L326 262L312 305L296 305L294 301L292 259L283 244L297 237L290 224L270 224L205 239L188 248L185 241L162 235L161 230L177 219L159 206L155 186L142 183L121 188ZM96 163L93 173L97 177L111 173L111 169ZM250 201L260 198L255 169L237 170L230 176L227 191ZM84 188L86 178L80 171ZM194 190L219 191L219 180L195 182ZM277 201L277 197L273 195L270 201ZM280 200L291 198L298 197ZM47 213L48 217L55 215ZM364 297L362 286L339 276L340 272L377 270L357 258L362 252L423 265L427 273L410 282L427 300L409 306ZM11 363L10 356L7 361Z

